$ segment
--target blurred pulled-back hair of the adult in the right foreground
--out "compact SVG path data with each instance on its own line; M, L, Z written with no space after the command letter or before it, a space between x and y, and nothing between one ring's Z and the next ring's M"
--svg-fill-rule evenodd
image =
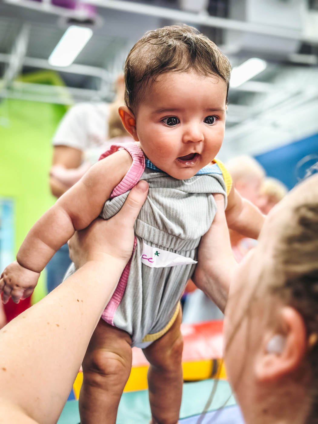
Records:
M287 216L280 213L282 208L288 210ZM299 184L275 213L281 227L273 248L278 283L270 290L298 310L307 329L305 365L311 374L312 408L306 423L314 424L318 423L318 175Z

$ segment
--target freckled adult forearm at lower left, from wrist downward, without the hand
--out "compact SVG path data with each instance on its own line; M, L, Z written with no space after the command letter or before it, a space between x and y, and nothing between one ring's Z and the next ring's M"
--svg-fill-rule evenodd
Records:
M56 423L124 266L107 256L87 262L0 331L0 404L15 405L35 422Z

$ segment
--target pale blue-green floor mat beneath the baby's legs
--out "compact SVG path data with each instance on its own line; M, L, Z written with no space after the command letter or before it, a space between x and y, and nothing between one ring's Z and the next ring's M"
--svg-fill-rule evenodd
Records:
M202 423L243 424L240 410L235 405L228 382L220 380L214 383L212 379L184 383L180 410L180 422L182 424L195 424L198 421L212 391L213 384L217 384L217 388L209 411L204 416ZM225 403L226 406L224 406ZM222 409L218 410L218 408ZM123 393L116 424L148 424L150 418L147 390ZM78 424L79 421L78 401L70 400L66 403L58 424Z

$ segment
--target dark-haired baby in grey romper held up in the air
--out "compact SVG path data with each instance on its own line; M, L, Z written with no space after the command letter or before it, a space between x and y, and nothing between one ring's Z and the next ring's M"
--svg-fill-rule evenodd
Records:
M126 106L119 108L135 143L105 152L36 222L17 261L3 271L4 301L29 296L50 257L75 230L98 215L114 215L128 190L140 179L148 181L134 252L84 357L81 424L115 423L131 346L142 347L150 362L151 422L178 422L179 299L216 212L213 194L223 194L230 228L257 238L262 227L263 215L232 188L229 173L215 159L223 142L229 78L228 59L194 28L146 33L126 59Z

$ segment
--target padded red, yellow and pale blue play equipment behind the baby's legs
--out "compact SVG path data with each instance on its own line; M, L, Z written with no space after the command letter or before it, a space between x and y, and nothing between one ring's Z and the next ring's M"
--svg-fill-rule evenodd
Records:
M223 321L181 326L184 337L182 366L186 381L180 411L180 422L183 424L195 424L199 419L201 424L243 424L240 410L225 380L222 330ZM149 423L151 413L146 390L148 367L142 350L133 348L131 375L120 400L117 424ZM65 405L58 424L78 424L77 399L82 381L83 375L78 373L69 398L73 400L69 400ZM215 393L206 408L212 390ZM206 413L202 414L204 410Z

